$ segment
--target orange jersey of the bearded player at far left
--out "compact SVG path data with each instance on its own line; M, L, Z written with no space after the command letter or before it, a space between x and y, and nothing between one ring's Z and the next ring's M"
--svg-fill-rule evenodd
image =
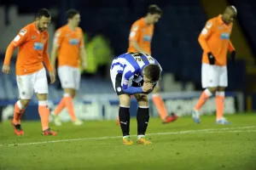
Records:
M19 47L16 75L26 75L41 70L48 55L48 32L38 31L36 24L25 26L12 43Z

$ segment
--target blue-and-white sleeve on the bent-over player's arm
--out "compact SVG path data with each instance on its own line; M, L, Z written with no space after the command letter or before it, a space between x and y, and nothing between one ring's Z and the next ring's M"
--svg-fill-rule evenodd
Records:
M125 94L142 94L143 93L142 87L129 87L129 84L131 84L133 78L134 78L134 71L131 71L131 69L129 69L129 66L126 66L123 72L123 77L121 82L123 92L125 92Z

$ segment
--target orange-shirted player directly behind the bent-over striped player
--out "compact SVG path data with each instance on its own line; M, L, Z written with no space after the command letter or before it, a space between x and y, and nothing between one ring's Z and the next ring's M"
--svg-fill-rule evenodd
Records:
M154 33L154 24L160 19L161 13L162 11L157 5L150 5L148 7L148 14L133 23L129 36L128 52L151 54L151 40ZM168 115L165 102L160 96L159 85L155 86L152 97L163 123L177 120L177 115L173 113Z

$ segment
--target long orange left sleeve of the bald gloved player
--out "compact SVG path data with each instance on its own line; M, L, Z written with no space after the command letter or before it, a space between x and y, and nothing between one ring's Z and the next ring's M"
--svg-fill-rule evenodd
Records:
M201 45L201 48L210 53L211 49L207 44L207 38L211 36L213 30L213 20L208 20L206 26L202 29L200 36L198 37L198 42Z

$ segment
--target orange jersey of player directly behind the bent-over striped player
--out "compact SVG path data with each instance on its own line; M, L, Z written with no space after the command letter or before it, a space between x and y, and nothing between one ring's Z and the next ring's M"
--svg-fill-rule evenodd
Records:
M154 25L147 25L143 18L135 21L131 26L128 52L139 52L131 45L131 40L134 40L146 53L151 54L151 40L153 33Z

